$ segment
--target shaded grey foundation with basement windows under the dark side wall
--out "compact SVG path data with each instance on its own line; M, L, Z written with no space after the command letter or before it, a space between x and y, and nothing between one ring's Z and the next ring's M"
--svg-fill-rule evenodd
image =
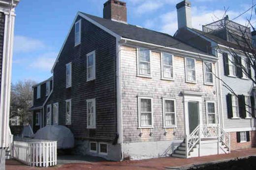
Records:
M92 141L95 142L95 141ZM120 161L121 160L121 147L119 144L112 145L112 143L107 143L107 155L103 155L99 153L99 143L97 142L97 151L91 152L90 151L90 141L88 140L75 140L75 148L73 153L77 155L91 155L91 156L97 156L102 157L107 160L111 161Z

